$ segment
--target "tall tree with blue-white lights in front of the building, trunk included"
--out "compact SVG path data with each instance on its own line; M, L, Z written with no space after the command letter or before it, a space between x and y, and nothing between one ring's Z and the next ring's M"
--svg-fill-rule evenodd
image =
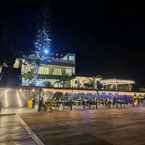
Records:
M41 61L48 61L50 57L50 45L51 39L49 37L48 31L48 19L46 13L41 17L42 24L40 24L34 41L34 51L29 56L24 56L24 58L29 59L32 65L34 66L34 75L32 79L32 83L36 85L40 85L38 83L39 77L39 66Z

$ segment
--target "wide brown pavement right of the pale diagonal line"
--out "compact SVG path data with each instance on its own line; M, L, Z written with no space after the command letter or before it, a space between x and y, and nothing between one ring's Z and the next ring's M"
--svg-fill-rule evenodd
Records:
M145 108L21 115L45 145L145 145Z

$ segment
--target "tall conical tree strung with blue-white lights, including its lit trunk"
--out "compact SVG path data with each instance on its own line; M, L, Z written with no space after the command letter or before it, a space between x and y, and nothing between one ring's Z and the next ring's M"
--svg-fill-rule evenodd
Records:
M37 31L34 39L33 51L30 55L24 55L23 58L31 63L34 68L32 76L32 84L41 86L39 79L39 67L41 62L47 62L50 59L50 45L51 39L49 37L50 29L50 16L48 7L44 7L40 10L40 13L37 17ZM39 23L40 22L40 23Z

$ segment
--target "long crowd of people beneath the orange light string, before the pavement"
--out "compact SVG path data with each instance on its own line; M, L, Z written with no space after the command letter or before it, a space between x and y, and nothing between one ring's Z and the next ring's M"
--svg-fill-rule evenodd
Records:
M33 101L34 102L34 101ZM126 108L136 107L145 104L145 97L133 97L127 95L112 94L74 94L69 96L56 98L48 98L44 101L40 98L38 103L38 111L52 111L65 109L99 109L99 108ZM33 105L34 107L34 105Z

